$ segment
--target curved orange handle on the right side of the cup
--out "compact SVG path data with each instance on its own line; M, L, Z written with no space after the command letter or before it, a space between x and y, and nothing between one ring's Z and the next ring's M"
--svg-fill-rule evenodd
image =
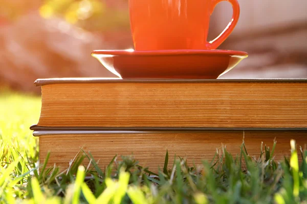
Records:
M225 41L225 39L233 31L239 19L240 7L239 7L239 3L237 2L237 0L213 0L213 5L212 5L210 15L213 13L215 6L218 3L223 2L223 1L227 1L232 5L232 9L233 9L232 19L220 35L218 35L214 40L211 40L210 42L207 43L207 49L209 50L216 49L218 46L220 46Z

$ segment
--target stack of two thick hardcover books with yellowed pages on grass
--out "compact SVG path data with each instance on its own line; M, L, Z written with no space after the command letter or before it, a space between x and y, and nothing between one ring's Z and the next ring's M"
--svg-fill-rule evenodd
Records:
M103 168L117 154L163 167L168 150L200 164L222 144L232 154L243 139L251 156L261 142L275 158L290 140L307 143L306 79L37 79L42 106L37 125L40 161L65 169L82 148Z

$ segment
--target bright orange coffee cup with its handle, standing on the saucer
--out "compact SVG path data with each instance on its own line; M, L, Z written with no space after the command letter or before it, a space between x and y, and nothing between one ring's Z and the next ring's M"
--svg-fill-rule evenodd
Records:
M233 15L225 30L207 42L210 16L222 2L231 3ZM135 50L211 50L220 46L237 24L237 0L129 0Z

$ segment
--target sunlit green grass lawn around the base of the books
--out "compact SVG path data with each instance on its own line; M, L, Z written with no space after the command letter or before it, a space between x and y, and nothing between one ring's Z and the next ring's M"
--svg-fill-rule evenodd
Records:
M40 164L38 172L38 143L29 127L39 110L39 97L0 92L0 203L307 203L307 151L296 152L290 140L292 156L280 162L272 141L271 150L259 144L257 159L243 143L240 154L222 149L197 167L181 157L170 165L166 153L159 172L129 155L100 169L81 151L68 171ZM82 166L84 159L92 166Z

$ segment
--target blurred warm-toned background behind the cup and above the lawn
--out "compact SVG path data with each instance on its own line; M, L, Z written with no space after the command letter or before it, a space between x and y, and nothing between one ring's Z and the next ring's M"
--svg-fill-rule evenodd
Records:
M141 1L141 0L140 0ZM218 49L249 53L223 78L307 78L307 0L238 0L239 22ZM36 92L37 78L115 77L94 49L133 48L128 0L0 0L0 87ZM226 27L217 5L209 40Z

